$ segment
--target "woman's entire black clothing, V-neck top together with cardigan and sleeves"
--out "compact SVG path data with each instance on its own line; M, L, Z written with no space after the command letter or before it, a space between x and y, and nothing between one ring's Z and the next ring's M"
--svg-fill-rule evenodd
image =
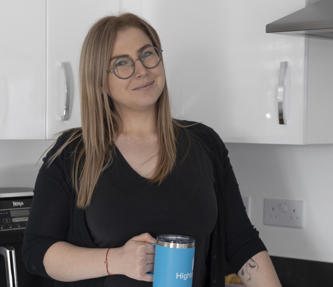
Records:
M197 240L193 286L217 287L224 286L225 274L238 272L252 256L266 250L246 214L228 150L219 135L202 123L180 122L189 127L180 130L176 164L160 186L148 184L116 149L86 209L77 207L72 184L79 139L47 166L72 131L63 133L43 158L36 179L22 247L26 269L51 279L43 259L58 241L88 248L119 247L144 232L154 237L188 234ZM152 285L124 275L53 282L58 287Z

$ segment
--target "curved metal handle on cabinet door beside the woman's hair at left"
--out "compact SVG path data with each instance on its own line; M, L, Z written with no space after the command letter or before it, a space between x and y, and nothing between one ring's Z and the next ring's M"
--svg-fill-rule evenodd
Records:
M73 98L74 98L74 76L70 62L62 62L61 67L65 73L65 84L66 84L66 99L64 106L64 114L61 117L62 121L68 121L71 117Z

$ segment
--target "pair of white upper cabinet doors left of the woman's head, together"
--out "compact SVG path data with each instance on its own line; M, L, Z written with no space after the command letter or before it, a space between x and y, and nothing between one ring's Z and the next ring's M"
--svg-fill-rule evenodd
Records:
M118 0L0 2L0 139L52 139L81 125L81 46L118 9Z

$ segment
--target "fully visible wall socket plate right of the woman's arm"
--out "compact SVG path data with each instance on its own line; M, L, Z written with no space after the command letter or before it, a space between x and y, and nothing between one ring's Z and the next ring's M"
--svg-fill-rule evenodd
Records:
M303 201L287 199L264 199L264 224L303 227Z

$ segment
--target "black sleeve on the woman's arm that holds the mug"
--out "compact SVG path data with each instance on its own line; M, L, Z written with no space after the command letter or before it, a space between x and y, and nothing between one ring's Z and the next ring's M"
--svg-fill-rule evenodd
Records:
M52 244L66 240L73 202L65 175L63 154L47 167L47 160L63 142L64 136L59 137L43 158L43 165L35 182L32 208L22 246L22 258L28 272L48 278L43 258Z

